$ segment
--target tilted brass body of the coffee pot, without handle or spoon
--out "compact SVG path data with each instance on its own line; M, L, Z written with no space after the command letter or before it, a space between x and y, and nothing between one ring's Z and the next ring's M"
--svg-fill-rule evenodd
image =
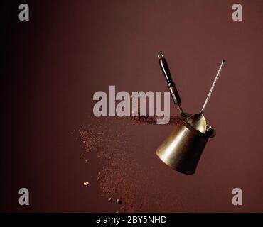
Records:
M215 136L215 130L211 126L208 127L206 133L200 133L186 123L186 119L182 120L156 150L156 154L174 170L192 175L208 138Z

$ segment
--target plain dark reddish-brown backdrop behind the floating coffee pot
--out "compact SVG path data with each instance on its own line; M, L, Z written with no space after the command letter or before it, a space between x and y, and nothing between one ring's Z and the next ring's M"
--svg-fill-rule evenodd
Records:
M165 91L159 52L190 113L199 111L220 61L227 60L205 110L217 136L195 175L181 175L157 159L170 126L131 127L138 133L133 142L148 158L140 162L134 150L137 167L158 170L156 188L178 194L180 207L171 201L163 211L263 211L263 1L238 1L242 22L232 21L236 1L27 2L29 22L18 21L20 2L1 7L1 211L116 211L117 204L100 196L100 162L93 155L86 165L69 131L87 123L92 95L108 92L109 85ZM172 106L171 114L177 113ZM18 205L21 187L29 189L31 206ZM243 206L231 203L235 187L243 191ZM149 192L149 203L153 196Z

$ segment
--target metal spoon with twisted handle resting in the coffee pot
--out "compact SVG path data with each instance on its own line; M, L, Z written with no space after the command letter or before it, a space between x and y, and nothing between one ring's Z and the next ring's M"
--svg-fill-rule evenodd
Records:
M218 77L220 75L220 72L222 71L222 67L225 64L225 60L222 60L221 65L219 67L218 73L215 76L214 82L212 84L212 87L210 88L210 91L208 93L208 96L205 99L205 103L203 104L203 108L201 109L200 113L194 114L190 116L186 121L190 126L193 126L193 128L197 129L201 133L205 133L206 131L206 121L205 121L205 116L203 116L203 111L205 109L206 104L208 104L208 100L210 99L210 96L213 92L213 89L215 87L215 83L218 80Z

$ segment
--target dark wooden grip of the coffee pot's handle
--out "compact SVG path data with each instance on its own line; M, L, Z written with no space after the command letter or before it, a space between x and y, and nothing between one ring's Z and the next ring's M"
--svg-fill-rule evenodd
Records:
M161 67L161 71L163 71L164 77L166 77L166 81L168 83L167 85L168 85L168 88L170 89L171 96L173 98L173 102L175 104L181 104L181 99L176 89L176 84L173 82L173 79L171 77L171 72L168 67L168 63L166 62L166 59L163 57L163 55L159 57L159 65Z

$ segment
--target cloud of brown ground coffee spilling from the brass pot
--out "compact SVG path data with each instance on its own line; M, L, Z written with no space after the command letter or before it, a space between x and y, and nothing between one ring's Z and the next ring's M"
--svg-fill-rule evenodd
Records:
M167 125L172 126L180 121L180 117L172 116ZM136 152L147 160L150 150L144 149L144 140L138 140L138 136L141 129L149 131L152 127L166 126L157 125L154 117L139 116L131 117L130 121L129 118L92 118L89 124L79 129L77 137L85 148L86 156L92 152L100 160L97 181L102 194L105 199L110 198L108 201L122 198L122 212L171 211L161 206L171 199L173 203L170 202L169 207L173 211L181 211L181 201L164 196L160 185L156 187L155 179L159 171L153 168L149 172L148 165L141 165L134 158ZM139 133L136 133L139 128ZM149 192L154 196L149 197Z

